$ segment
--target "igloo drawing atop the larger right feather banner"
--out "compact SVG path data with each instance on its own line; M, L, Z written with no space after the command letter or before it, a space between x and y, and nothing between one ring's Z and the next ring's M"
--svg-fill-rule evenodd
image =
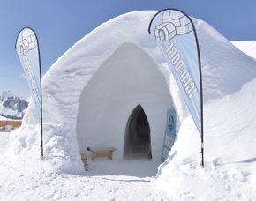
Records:
M155 27L154 36L156 41L170 41L176 35L190 32L192 32L192 23L183 13L163 11L162 23Z

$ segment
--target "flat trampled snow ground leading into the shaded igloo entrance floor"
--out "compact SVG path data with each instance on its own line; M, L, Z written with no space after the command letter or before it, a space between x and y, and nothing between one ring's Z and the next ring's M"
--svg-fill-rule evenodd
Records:
M159 161L89 160L83 175L49 174L42 161L6 160L10 133L0 133L0 200L161 200L152 176ZM149 168L148 168L149 167Z

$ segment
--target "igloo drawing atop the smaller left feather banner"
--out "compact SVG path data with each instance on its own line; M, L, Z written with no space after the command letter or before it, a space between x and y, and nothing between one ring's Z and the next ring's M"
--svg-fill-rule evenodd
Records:
M34 33L28 28L22 30L21 41L18 46L19 56L26 56L27 52L36 48L36 46L37 42Z

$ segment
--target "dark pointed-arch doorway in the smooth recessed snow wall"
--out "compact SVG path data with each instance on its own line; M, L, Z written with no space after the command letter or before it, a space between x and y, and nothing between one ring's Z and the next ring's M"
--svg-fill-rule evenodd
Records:
M140 105L133 109L125 130L124 159L131 158L152 158L150 127Z

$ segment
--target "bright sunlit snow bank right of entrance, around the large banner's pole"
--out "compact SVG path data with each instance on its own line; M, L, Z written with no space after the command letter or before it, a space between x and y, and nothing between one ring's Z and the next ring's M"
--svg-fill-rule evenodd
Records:
M205 169L200 167L200 138L195 128L191 131L192 117L185 119L169 160L159 167L159 189L184 200L255 199L255 85L253 79L241 91L205 105Z

